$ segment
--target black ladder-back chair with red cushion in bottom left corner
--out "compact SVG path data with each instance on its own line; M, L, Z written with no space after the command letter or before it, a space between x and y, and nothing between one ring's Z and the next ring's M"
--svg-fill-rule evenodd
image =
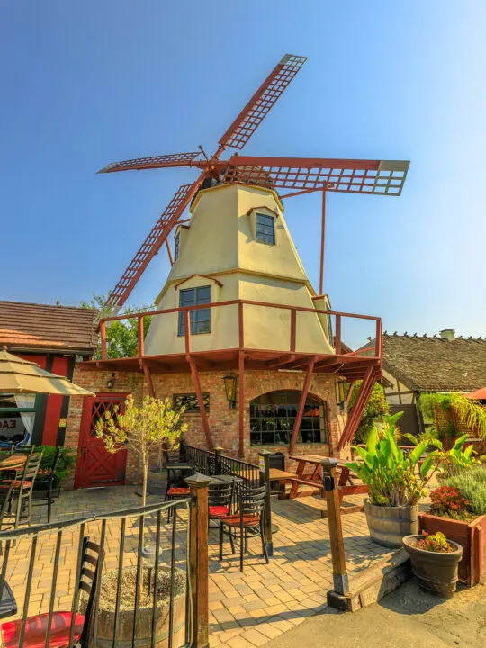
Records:
M79 591L88 595L85 614L75 614L74 640L69 645L69 636L73 614L71 611L54 612L50 622L49 648L87 648L91 620L94 610L94 595L99 576L100 558L102 555L100 545L95 545L88 537L83 538L83 563L81 567L81 578L78 585L76 597L76 609L79 603ZM0 626L0 633L3 639L4 648L40 648L46 644L48 632L49 612L27 617L25 624L25 635L22 646L20 645L20 634L22 629L22 618L14 621L6 621Z

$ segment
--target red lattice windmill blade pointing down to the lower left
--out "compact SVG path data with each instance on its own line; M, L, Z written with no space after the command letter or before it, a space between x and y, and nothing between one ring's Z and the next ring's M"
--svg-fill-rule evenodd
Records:
M140 276L165 242L171 229L179 220L201 183L202 178L196 180L193 184L183 184L177 189L174 198L168 203L166 211L157 220L148 237L140 246L139 251L133 257L130 266L125 270L120 281L110 293L107 300L108 305L120 309L127 301Z

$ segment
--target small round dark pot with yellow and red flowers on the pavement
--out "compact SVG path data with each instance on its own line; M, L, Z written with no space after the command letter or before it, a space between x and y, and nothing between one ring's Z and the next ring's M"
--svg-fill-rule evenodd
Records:
M450 599L455 592L463 547L440 531L432 536L405 536L403 546L410 555L412 572L422 590Z

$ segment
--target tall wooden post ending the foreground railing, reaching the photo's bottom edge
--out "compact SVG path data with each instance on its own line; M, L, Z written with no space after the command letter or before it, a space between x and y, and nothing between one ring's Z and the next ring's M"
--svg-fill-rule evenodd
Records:
M209 559L208 559L208 486L206 475L197 473L185 482L191 489L189 571L192 583L193 643L192 648L209 646Z

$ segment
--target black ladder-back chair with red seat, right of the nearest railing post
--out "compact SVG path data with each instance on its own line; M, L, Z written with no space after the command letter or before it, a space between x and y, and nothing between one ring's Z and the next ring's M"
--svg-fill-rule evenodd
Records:
M266 486L255 489L238 488L238 510L236 513L220 518L220 561L222 561L223 536L232 538L236 532L238 537L239 529L239 570L243 572L243 556L247 552L248 536L260 536L262 550L269 563L268 552L264 534L264 512L266 501ZM228 527L225 530L224 527ZM232 543L231 543L232 545ZM231 549L234 553L233 546Z

